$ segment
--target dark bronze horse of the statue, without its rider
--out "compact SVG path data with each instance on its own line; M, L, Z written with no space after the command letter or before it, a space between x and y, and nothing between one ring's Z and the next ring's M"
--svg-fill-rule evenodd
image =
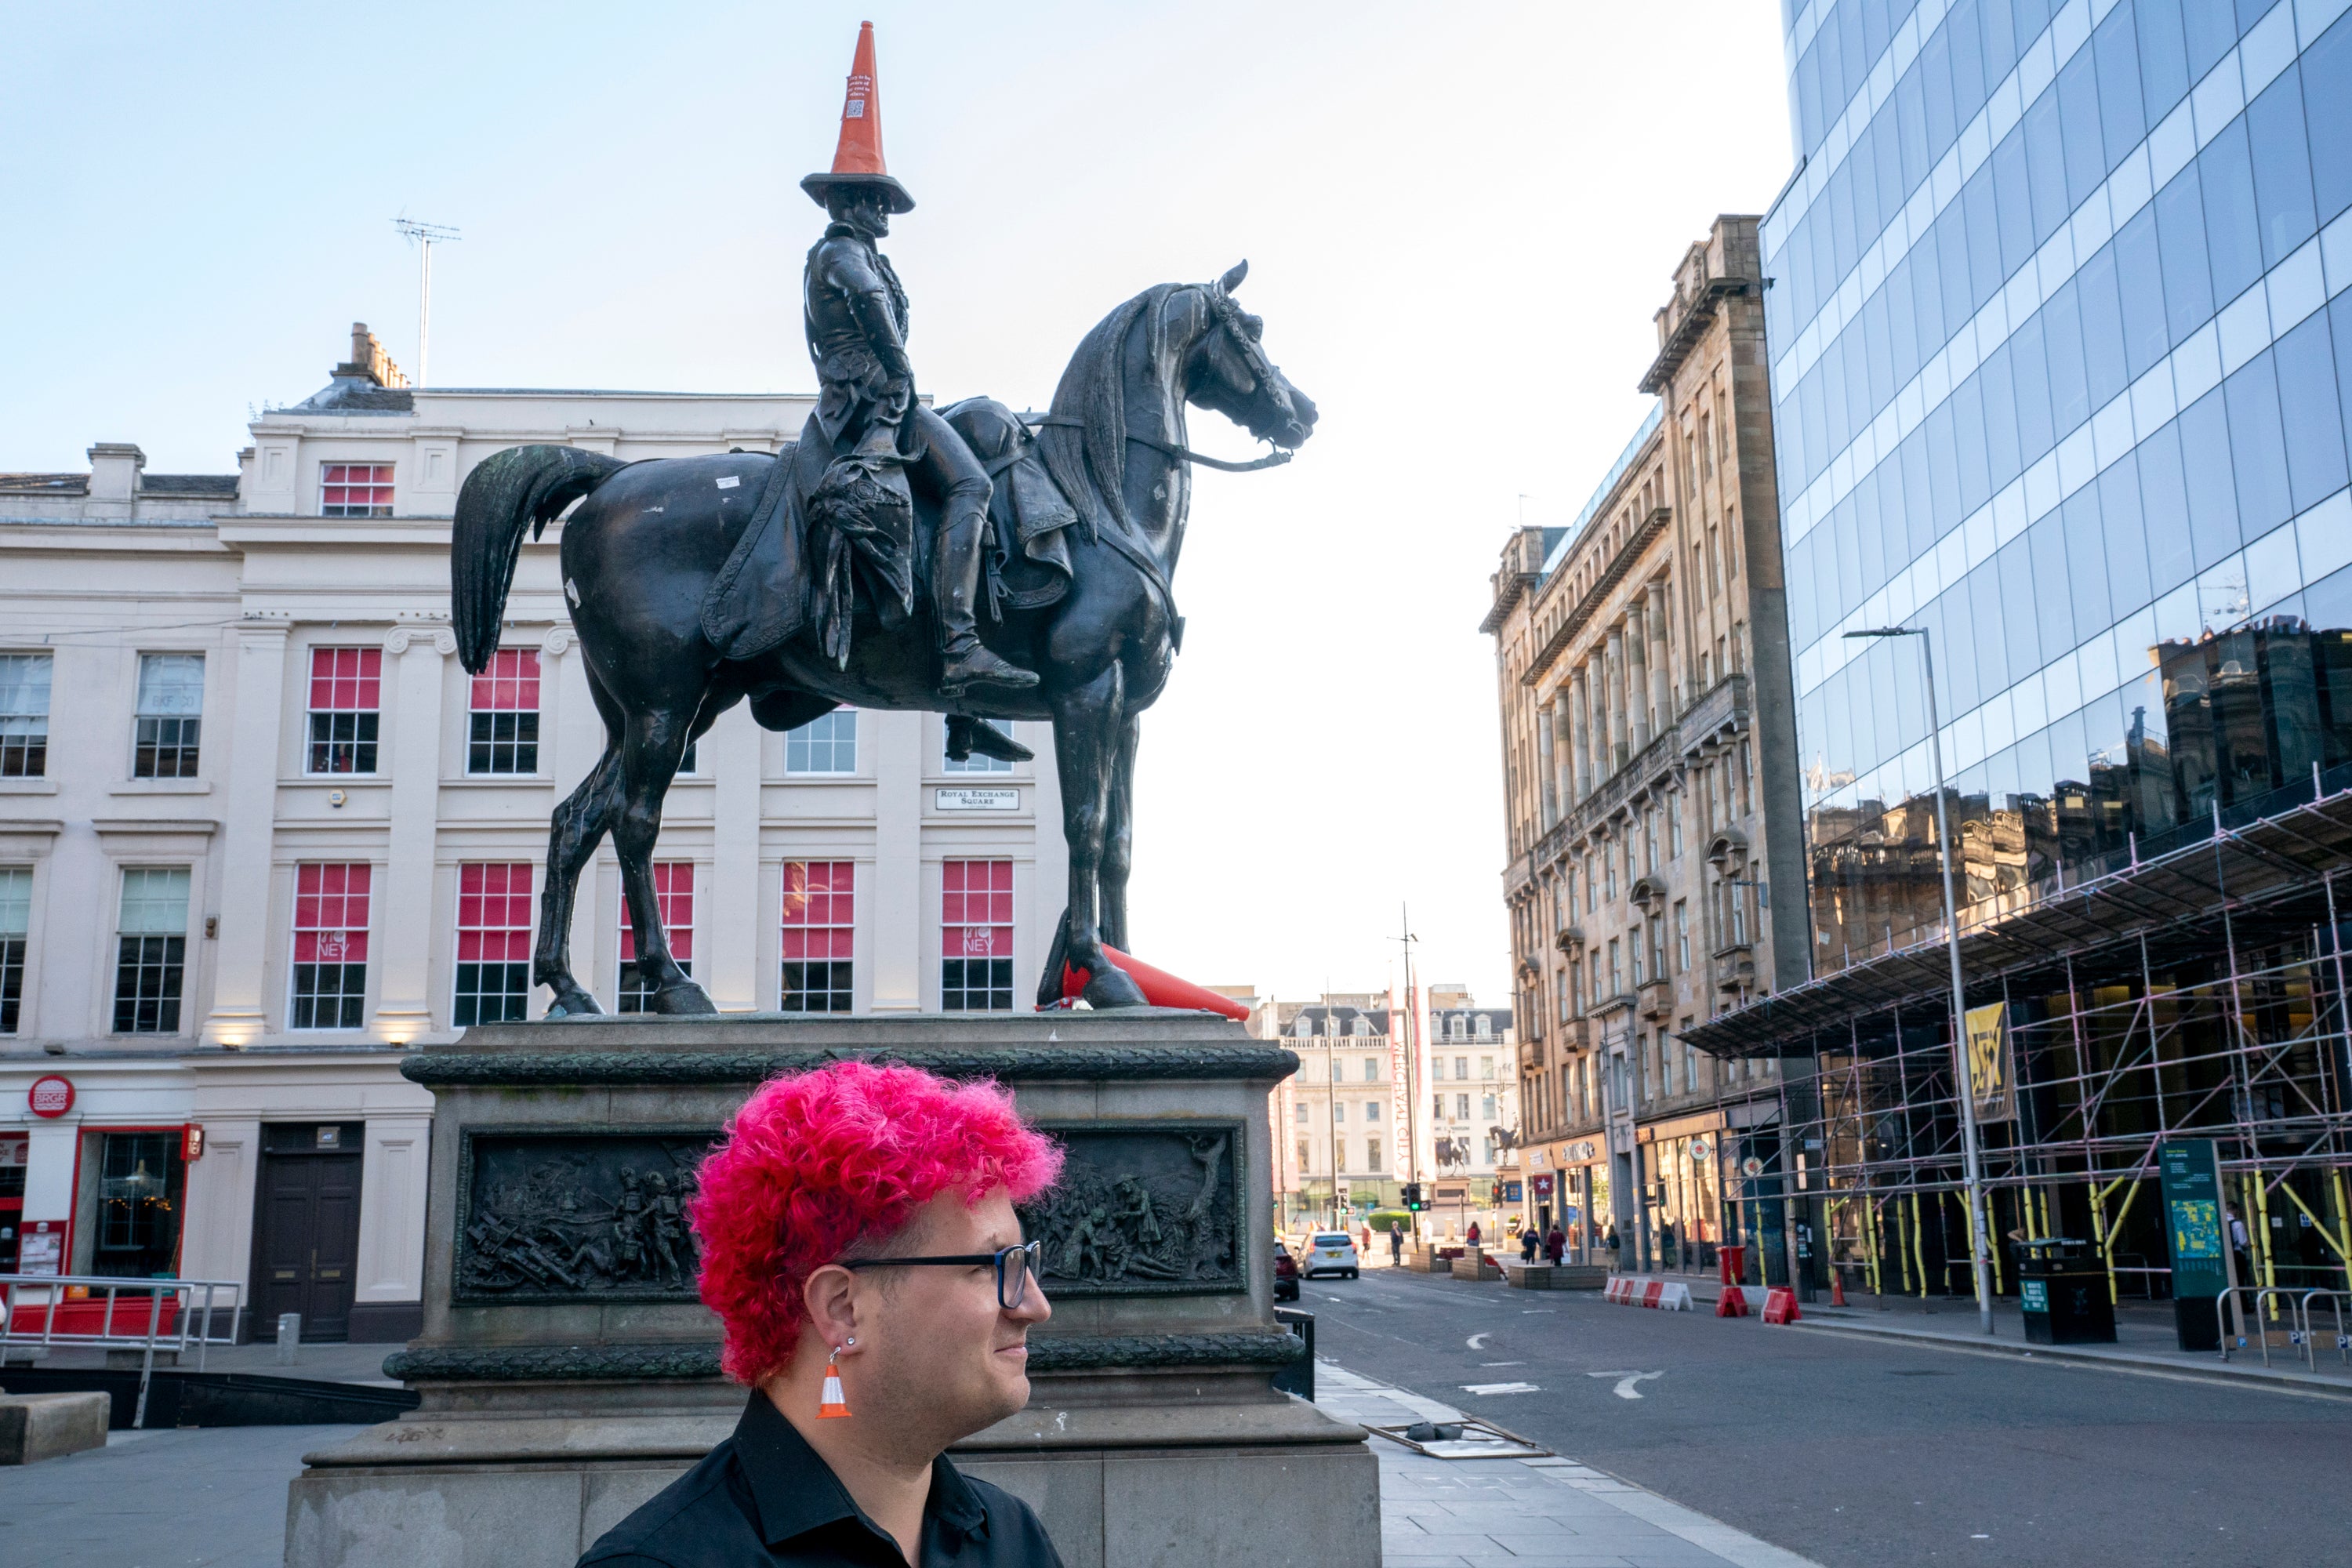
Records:
M640 463L579 447L513 447L466 475L449 541L449 604L470 672L482 672L499 649L524 534L536 538L574 508L562 529L562 581L588 691L604 717L604 755L555 809L548 835L532 978L555 992L550 1018L602 1011L572 976L567 938L581 867L604 832L621 858L637 971L654 987L654 1011L715 1011L670 957L652 856L677 764L739 701L764 729L795 729L842 703L1051 719L1070 903L1047 954L1040 1004L1061 997L1063 961L1087 971L1089 1006L1143 1004L1103 945L1127 945L1136 722L1160 698L1183 635L1169 578L1192 501L1190 465L1261 468L1315 430L1312 400L1265 357L1263 322L1232 299L1247 270L1244 261L1211 284L1160 284L1112 310L1080 343L1051 414L1037 421L1044 468L1080 520L1065 529L1068 588L1049 604L1023 604L1042 595L1004 595L997 616L981 618L988 646L1037 670L1030 691L974 686L943 701L929 616L880 614L866 590L856 595L847 649L826 651L814 618L753 658L729 658L706 635L713 583L750 527L771 465L795 461L790 444L779 456ZM1277 454L1258 463L1192 454L1185 404L1223 414ZM934 508L936 498L917 496L917 581L929 576Z

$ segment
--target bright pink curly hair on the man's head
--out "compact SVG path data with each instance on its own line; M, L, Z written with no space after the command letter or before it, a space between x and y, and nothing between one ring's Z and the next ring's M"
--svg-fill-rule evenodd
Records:
M800 1345L802 1281L854 1241L884 1239L948 1190L1004 1187L1016 1204L1061 1175L1061 1145L995 1084L920 1067L833 1063L769 1079L727 1124L687 1215L703 1305L727 1326L720 1366L743 1385L783 1373Z

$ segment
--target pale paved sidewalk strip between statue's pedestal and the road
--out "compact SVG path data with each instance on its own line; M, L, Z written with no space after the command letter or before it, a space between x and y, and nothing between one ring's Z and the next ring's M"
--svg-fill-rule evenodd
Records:
M1383 1427L1461 1420L1454 1406L1315 1366L1315 1403ZM1432 1460L1371 1439L1381 1455L1385 1568L1816 1568L1571 1458Z

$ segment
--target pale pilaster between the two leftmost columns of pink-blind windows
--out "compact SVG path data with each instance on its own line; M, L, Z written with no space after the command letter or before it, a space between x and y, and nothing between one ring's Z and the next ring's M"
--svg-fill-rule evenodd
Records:
M379 748L393 776L386 806L383 879L374 889L374 926L383 938L376 978L376 1032L412 1041L433 1030L433 875L440 827L442 672L456 632L395 628L383 639L393 689L390 745Z

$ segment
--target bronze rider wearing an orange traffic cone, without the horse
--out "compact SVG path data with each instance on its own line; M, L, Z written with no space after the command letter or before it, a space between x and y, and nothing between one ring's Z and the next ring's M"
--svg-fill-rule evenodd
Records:
M873 24L866 24L858 31L833 169L800 181L833 219L826 237L809 249L802 273L802 310L818 386L816 423L835 454L811 496L811 510L851 520L875 512L910 517L908 470L920 475L941 508L931 552L941 696L953 701L971 686L1028 689L1037 684L1037 675L985 649L974 623L981 548L988 538L988 470L948 421L915 400L915 364L906 355L906 289L875 247L889 233L891 214L915 207L915 197L882 165L877 110Z

